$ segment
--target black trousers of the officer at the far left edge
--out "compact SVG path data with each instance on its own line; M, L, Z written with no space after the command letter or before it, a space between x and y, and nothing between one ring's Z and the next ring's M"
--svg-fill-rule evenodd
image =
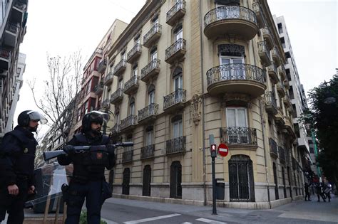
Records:
M7 186L0 186L0 222L5 219L6 212L9 213L7 223L21 224L24 222L24 204L28 196L26 179L17 179L19 187L17 196L9 195Z

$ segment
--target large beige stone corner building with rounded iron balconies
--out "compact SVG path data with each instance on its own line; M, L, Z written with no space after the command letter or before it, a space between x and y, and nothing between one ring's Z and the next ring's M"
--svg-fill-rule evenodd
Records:
M212 134L229 147L215 165L220 206L302 198L286 59L267 1L148 0L106 48L97 97L115 114L111 137L134 142L116 150L107 174L116 196L211 203Z

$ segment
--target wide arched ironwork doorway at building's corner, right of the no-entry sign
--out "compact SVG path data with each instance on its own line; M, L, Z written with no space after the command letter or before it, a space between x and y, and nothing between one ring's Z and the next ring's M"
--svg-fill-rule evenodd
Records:
M231 156L228 164L230 201L255 201L255 184L250 157Z

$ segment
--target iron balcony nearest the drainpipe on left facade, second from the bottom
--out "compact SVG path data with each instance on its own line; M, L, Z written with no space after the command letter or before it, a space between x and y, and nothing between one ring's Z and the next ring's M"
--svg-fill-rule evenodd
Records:
M186 101L186 92L186 90L178 89L163 97L163 110L173 112L182 109Z

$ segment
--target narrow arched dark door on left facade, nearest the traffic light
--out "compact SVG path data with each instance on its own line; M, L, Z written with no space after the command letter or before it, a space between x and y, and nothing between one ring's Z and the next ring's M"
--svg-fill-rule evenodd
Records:
M170 198L182 198L182 165L173 161L170 166Z

